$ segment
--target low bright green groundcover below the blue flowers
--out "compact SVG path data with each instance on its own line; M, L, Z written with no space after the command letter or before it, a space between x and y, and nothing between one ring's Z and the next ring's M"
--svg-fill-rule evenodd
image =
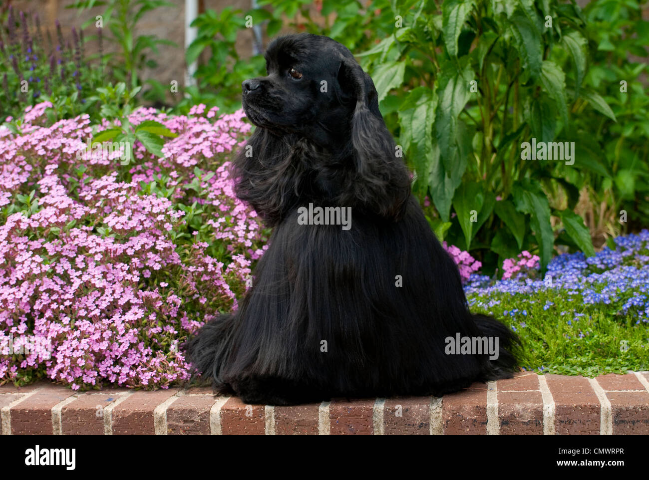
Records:
M472 311L503 318L516 330L517 358L527 370L595 377L649 366L644 324L633 313L617 315L618 306L585 306L580 295L551 289L468 299Z

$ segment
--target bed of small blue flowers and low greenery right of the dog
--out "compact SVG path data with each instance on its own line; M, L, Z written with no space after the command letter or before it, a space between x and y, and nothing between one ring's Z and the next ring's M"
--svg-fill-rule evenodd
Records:
M615 244L590 258L556 256L543 278L537 268L507 270L511 278L498 282L474 274L465 287L469 304L506 318L524 342L528 369L588 376L646 370L649 231ZM519 262L533 265L528 258Z

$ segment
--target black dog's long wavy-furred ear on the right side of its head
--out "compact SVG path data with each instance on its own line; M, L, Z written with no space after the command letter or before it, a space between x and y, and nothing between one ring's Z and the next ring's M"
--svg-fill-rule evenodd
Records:
M343 60L338 81L356 101L351 119L356 175L349 193L363 208L398 219L410 196L410 175L378 109L374 82L353 58Z

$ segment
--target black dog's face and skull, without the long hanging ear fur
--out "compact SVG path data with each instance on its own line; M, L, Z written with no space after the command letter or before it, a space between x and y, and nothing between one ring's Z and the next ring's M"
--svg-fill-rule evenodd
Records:
M356 102L382 119L372 78L341 43L288 35L272 42L264 56L268 75L241 85L243 109L254 125L331 147L349 135Z

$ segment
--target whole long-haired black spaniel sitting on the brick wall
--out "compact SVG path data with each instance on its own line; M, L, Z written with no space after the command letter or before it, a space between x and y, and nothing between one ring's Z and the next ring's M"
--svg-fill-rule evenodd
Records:
M218 392L274 405L441 396L511 376L517 338L469 312L369 75L323 36L278 38L265 56L269 75L243 83L257 128L232 176L273 234L238 311L184 344L193 366ZM350 230L299 224L297 209L309 203L350 207ZM456 333L499 337L498 359L445 354Z

